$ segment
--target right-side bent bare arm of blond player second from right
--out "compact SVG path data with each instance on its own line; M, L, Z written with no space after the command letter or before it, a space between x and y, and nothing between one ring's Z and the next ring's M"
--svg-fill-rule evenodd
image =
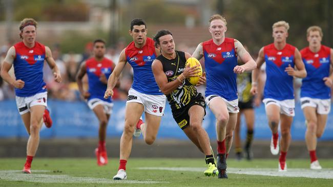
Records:
M304 63L302 61L301 53L298 51L298 49L295 49L295 66L296 66L297 70L295 70L295 68L293 68L289 64L289 66L285 68L285 72L289 76L294 76L294 77L298 77L298 78L305 78L306 77L306 70L305 70Z

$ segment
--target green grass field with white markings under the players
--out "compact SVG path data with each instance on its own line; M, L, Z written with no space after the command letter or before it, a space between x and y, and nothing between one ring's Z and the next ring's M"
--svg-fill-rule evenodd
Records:
M98 167L95 159L35 158L32 174L20 172L24 158L0 158L0 186L333 186L333 160L321 159L321 171L309 160L288 159L277 172L277 159L227 160L229 179L205 177L204 159L131 158L126 181L114 181L118 160ZM319 178L313 178L319 177Z

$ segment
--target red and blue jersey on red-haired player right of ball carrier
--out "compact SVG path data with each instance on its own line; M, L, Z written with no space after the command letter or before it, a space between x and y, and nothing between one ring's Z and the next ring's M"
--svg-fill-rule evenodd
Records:
M225 38L216 45L213 39L202 42L206 72L205 96L218 95L227 101L236 100L237 84L234 67L237 54L233 38Z

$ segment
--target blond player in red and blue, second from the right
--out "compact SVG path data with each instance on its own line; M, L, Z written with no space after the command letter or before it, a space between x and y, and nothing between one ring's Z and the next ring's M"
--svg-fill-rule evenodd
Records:
M286 43L288 29L289 24L285 21L278 21L273 25L274 43L260 49L257 68L252 74L251 88L251 92L256 94L260 66L266 62L267 79L263 102L268 124L273 134L270 151L274 155L279 153L278 127L281 121L279 171L287 170L285 160L291 140L290 127L295 116L293 77L304 78L306 76L300 52L295 46ZM298 70L294 69L295 66Z

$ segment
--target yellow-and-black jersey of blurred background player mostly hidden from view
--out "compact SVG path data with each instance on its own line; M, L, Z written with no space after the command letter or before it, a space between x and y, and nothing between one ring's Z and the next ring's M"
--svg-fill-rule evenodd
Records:
M251 72L237 74L238 102L251 102L253 99L251 90Z

